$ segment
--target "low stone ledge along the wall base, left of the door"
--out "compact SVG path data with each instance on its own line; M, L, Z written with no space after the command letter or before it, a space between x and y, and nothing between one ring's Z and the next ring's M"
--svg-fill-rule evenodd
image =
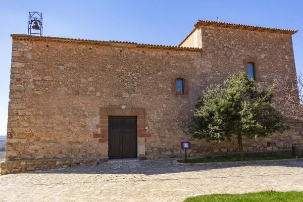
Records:
M33 170L67 168L81 165L95 165L107 162L109 159L36 159L6 161L0 164L0 174L18 173Z

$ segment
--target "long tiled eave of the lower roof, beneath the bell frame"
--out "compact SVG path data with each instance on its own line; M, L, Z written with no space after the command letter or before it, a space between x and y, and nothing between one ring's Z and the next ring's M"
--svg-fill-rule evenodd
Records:
M164 50L172 50L172 51L191 51L191 52L202 52L203 51L202 48L196 48L196 47L154 45L154 44L136 43L136 42L129 42L129 41L100 41L100 40L51 37L51 36L33 36L33 35L27 35L27 34L11 34L11 37L13 37L13 39L19 39L19 40L51 41L51 42L62 42L62 43L78 43L78 44L93 44L93 45L107 45L107 46L123 45L126 47L164 49Z

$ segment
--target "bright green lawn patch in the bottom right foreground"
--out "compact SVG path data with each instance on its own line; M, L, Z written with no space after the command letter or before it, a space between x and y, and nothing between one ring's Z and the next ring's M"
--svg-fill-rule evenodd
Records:
M299 202L303 201L303 191L262 191L244 194L212 194L190 197L184 202Z

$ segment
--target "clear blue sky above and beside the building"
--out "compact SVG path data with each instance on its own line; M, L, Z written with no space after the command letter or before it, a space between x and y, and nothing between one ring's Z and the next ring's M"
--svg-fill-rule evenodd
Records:
M0 0L0 135L6 135L12 39L27 34L28 12L43 14L43 35L178 45L200 20L295 29L296 68L303 71L302 0Z

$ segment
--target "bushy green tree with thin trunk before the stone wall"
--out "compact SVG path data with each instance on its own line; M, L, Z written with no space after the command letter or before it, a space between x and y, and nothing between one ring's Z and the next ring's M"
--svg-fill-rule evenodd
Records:
M245 73L234 74L223 85L207 87L194 109L193 137L231 141L234 134L244 161L242 136L265 137L287 128L283 114L271 102L273 91L273 86L263 89Z

